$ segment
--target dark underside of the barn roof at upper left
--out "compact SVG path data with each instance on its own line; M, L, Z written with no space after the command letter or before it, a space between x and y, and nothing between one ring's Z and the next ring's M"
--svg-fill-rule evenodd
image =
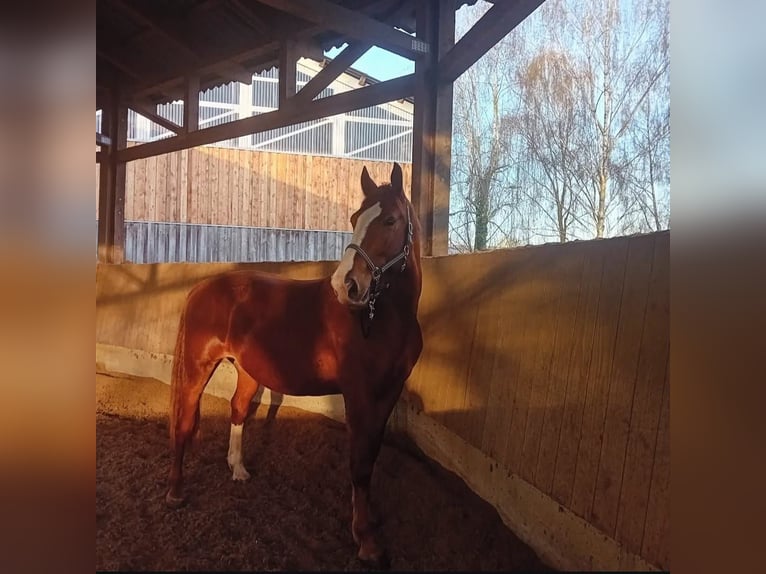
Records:
M477 0L457 0L455 8ZM184 78L198 75L200 89L278 64L280 45L316 60L342 46L364 15L411 34L414 0L102 0L96 12L97 106L99 87L120 85L128 101L158 104L183 99ZM349 19L351 16L351 19ZM368 20L368 23L370 21ZM374 23L371 23L374 28ZM374 29L370 42L375 44ZM394 52L401 45L385 46Z

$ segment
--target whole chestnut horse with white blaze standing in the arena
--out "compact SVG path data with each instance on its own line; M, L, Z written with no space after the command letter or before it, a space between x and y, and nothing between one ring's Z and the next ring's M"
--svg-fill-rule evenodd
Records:
M351 531L365 562L385 565L370 509L383 431L423 346L419 226L394 164L391 183L362 170L364 200L352 243L330 277L300 281L233 271L202 281L181 315L171 383L173 457L166 501L180 506L184 450L199 423L202 391L218 363L234 363L227 461L234 480L242 430L259 385L288 395L341 394L350 440Z

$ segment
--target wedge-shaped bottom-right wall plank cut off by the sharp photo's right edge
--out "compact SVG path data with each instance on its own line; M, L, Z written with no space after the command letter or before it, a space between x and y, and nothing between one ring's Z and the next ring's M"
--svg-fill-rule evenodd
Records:
M665 374L641 555L670 570L670 360Z

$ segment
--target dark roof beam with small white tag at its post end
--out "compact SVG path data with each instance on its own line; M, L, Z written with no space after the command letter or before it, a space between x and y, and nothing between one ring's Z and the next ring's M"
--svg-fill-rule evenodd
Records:
M415 60L427 55L430 46L409 34L328 0L258 0L282 12L292 14L363 42L372 42L404 58Z

